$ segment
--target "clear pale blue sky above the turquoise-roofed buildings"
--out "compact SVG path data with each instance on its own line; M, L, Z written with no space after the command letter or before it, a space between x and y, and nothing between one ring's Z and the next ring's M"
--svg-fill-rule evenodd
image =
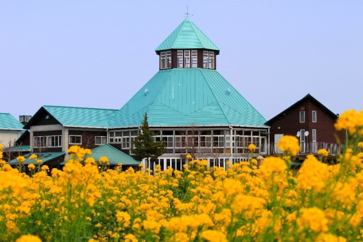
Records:
M0 112L121 108L187 4L219 73L267 120L307 93L334 113L363 108L363 1L0 0Z

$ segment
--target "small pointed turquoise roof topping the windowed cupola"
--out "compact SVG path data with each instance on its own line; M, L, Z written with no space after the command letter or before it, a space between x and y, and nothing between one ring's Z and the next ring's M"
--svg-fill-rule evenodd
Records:
M169 49L219 50L209 38L187 17L155 51Z

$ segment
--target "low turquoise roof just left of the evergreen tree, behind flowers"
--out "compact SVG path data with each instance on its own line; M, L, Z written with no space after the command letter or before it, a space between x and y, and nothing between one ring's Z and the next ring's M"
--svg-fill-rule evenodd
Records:
M93 159L98 162L99 158L102 156L106 156L109 159L110 165L118 165L122 163L122 165L139 165L140 162L136 161L131 156L123 153L122 151L114 148L110 144L99 145L98 147L92 149Z

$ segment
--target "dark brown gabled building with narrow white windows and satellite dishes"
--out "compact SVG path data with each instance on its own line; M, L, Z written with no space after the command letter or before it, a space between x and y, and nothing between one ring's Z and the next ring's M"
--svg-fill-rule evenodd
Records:
M316 153L325 148L329 154L342 152L345 132L335 131L338 118L310 94L268 120L270 126L270 153L280 153L277 142L283 135L298 137L302 154Z

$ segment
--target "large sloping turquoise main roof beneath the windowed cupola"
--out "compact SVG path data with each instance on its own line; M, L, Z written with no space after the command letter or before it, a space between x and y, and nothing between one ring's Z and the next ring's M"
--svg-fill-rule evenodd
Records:
M150 126L268 127L265 118L231 84L209 69L159 71L109 120L109 125L139 126L145 112Z

